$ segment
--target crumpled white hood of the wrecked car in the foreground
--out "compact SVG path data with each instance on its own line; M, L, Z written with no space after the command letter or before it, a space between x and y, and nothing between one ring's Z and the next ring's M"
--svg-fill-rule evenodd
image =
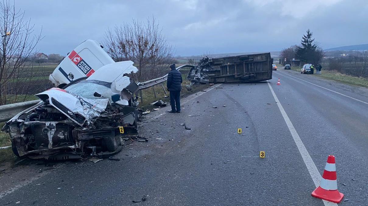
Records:
M44 102L49 99L49 103L51 105L81 126L84 122L78 121L78 119L74 118L75 114L79 113L79 115L82 115L85 120L92 119L105 111L109 102L109 99L106 98L82 98L78 94L74 94L60 88L51 88L42 93L36 94L36 96Z

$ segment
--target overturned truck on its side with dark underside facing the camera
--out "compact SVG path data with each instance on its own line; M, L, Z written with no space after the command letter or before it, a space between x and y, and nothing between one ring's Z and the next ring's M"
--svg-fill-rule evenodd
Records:
M203 58L187 78L193 83L261 82L272 79L272 63L270 53Z

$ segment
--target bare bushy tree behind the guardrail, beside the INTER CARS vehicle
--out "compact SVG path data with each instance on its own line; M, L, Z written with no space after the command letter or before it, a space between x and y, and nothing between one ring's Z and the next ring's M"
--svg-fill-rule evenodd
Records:
M160 67L167 67L174 54L174 47L162 35L155 18L147 18L146 22L133 19L131 24L125 22L108 29L104 44L115 61L131 60L136 64L139 81L154 77ZM144 71L147 71L145 75Z

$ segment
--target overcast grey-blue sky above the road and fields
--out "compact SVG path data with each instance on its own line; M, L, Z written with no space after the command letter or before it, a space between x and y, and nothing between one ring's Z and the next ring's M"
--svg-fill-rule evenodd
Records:
M15 0L42 26L40 52L66 55L132 18L159 20L176 55L280 51L308 28L323 48L366 44L367 0Z

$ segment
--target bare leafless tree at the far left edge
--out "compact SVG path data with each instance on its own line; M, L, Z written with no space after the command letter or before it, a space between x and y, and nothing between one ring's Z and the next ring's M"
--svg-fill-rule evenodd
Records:
M9 96L13 101L24 101L29 95L34 68L26 59L42 39L41 32L32 35L34 25L14 3L0 1L0 105L7 104Z

